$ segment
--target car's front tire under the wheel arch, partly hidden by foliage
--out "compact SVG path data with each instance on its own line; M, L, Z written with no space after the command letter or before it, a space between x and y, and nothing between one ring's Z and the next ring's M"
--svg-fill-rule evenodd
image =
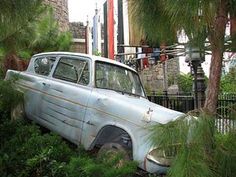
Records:
M98 151L98 160L105 163L115 162L114 167L121 168L130 161L129 150L119 143L105 143ZM115 159L117 158L117 160Z

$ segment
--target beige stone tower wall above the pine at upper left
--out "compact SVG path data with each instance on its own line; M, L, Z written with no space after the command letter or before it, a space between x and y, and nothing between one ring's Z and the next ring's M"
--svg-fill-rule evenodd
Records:
M58 21L60 31L68 31L68 0L44 0L44 3L53 7L55 19Z

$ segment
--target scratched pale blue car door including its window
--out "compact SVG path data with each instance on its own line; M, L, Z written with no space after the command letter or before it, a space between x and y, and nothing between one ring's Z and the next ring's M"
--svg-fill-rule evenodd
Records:
M90 87L90 59L61 56L42 89L41 117L50 129L79 144Z

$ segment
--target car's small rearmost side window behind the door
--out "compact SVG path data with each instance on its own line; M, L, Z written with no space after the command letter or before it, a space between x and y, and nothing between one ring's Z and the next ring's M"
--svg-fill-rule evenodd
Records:
M34 71L36 74L48 76L52 70L56 57L39 57L34 61Z

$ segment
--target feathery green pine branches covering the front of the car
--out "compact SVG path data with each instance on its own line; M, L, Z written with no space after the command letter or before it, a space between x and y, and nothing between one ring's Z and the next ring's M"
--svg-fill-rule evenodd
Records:
M214 119L202 113L199 117L187 114L165 125L155 125L150 138L159 149L175 147L169 176L213 177L214 134Z

